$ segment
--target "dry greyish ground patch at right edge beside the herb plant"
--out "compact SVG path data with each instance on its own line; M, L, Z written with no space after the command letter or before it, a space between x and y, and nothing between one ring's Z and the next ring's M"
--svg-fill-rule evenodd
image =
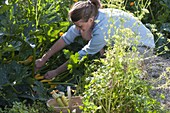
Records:
M144 60L145 79L154 88L151 95L170 110L170 59L157 56Z

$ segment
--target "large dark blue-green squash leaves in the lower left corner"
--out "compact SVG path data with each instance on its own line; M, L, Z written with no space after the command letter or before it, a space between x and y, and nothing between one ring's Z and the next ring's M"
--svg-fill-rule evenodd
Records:
M14 101L28 100L46 100L47 90L42 83L35 81L30 76L29 68L24 67L17 62L10 64L1 64L0 96L1 106L11 105Z

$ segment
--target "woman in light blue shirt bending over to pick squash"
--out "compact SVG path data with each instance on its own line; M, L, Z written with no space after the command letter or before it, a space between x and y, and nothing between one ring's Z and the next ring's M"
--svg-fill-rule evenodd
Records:
M69 30L42 56L36 60L36 69L41 68L46 61L56 52L66 45L74 42L77 36L82 36L88 43L78 53L80 58L84 55L94 55L103 52L109 36L109 25L114 25L111 29L111 36L114 35L115 28L120 27L121 19L124 19L123 26L130 28L135 34L140 36L139 48L154 48L154 37L152 33L135 17L117 9L99 9L100 0L79 1L75 3L69 12L69 18L74 23ZM114 22L110 21L110 18ZM53 78L67 70L67 62L55 70L48 71L44 76L47 79Z

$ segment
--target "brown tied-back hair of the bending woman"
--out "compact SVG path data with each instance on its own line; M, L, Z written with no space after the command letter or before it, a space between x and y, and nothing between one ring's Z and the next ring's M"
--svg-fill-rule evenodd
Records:
M100 0L76 2L69 11L69 18L72 22L77 22L80 19L87 22L89 18L97 16L100 7Z

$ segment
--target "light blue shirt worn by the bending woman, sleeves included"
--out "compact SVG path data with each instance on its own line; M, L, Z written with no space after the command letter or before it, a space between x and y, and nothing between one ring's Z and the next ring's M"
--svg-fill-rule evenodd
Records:
M139 46L155 47L154 36L137 18L118 9L99 9L99 14L92 30L92 38L87 45L78 52L80 57L86 54L94 55L98 53L106 45L105 39L109 37L108 31L111 31L110 36L113 36L115 34L115 28L121 27L122 21L124 28L130 28L136 35L140 36ZM113 25L111 30L110 25ZM65 43L69 45L80 35L80 31L73 25L62 38Z

